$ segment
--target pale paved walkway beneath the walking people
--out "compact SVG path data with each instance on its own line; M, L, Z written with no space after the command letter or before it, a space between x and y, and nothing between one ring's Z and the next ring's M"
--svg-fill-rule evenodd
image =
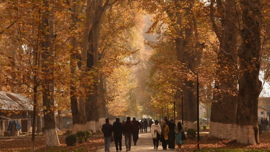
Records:
M148 129L147 129L148 130ZM105 147L99 147L99 149L97 150L97 152L104 152ZM162 150L162 145L161 142L159 143L159 149L158 150ZM111 142L110 144L110 152L115 152L115 144L114 142ZM124 140L124 136L122 138L122 151L126 151L126 146L125 146L125 140ZM154 150L154 144L153 144L153 140L152 140L152 135L150 134L150 128L148 130L148 133L139 133L139 140L137 141L136 146L134 146L134 142L133 139L131 141L131 151L139 151L139 152L156 152L156 150ZM169 150L169 151L177 151L177 150Z

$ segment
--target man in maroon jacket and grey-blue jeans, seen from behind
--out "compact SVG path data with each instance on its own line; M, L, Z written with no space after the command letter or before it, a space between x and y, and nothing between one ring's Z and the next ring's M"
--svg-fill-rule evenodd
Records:
M126 151L131 150L131 137L132 137L132 132L134 130L134 125L130 121L130 117L127 117L126 122L123 125L123 133L125 136L125 145L126 145Z

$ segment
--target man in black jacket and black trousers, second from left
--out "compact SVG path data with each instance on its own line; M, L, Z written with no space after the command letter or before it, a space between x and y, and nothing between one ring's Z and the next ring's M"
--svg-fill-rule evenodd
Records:
M115 148L116 151L122 150L122 133L123 133L123 125L120 123L119 117L115 118L115 122L113 123L113 137L115 140ZM119 149L118 149L119 143Z

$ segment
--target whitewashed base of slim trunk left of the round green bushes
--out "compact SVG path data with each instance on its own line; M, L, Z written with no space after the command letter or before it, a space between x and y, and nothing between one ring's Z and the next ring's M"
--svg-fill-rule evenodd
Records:
M46 147L57 146L60 144L58 140L56 128L49 129L49 130L45 129L44 134L45 134Z

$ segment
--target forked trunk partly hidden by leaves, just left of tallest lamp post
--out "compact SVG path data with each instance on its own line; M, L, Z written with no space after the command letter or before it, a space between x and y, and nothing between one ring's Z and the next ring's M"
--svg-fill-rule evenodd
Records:
M194 5L194 0L189 2L189 8L192 9ZM176 38L176 54L178 61L184 63L186 68L194 71L196 67L200 64L201 60L201 48L198 42L198 34L197 34L197 24L194 14L191 13L189 9L186 9L185 17L187 17L187 25L183 27L182 25L182 15L180 12L177 13L177 38ZM183 29L185 30L185 37L183 36ZM193 42L192 37L195 38L195 42ZM190 46L191 44L195 44L195 46ZM193 48L193 50L190 50ZM195 51L195 53L193 52ZM196 85L193 85L193 81L185 80L186 85L182 86L184 103L186 106L186 119L187 128L194 128L194 122L197 120L196 111L197 111L197 102L196 102L196 94L194 91L196 90Z

